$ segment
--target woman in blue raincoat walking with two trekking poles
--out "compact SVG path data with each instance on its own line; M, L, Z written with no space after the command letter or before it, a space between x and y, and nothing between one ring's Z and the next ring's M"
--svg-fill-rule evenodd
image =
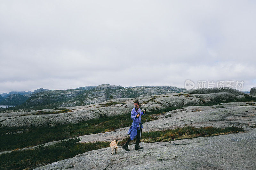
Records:
M133 122L132 122L132 126L130 127L130 129L128 131L128 135L130 135L130 137L127 139L124 146L122 146L126 151L130 151L128 149L129 142L136 137L137 137L137 140L136 140L136 144L135 144L135 150L143 149L143 147L139 146L140 134L142 135L141 128L143 128L140 120L141 120L141 116L144 115L144 112L147 112L147 110L144 110L141 113L139 105L140 105L139 101L137 101L137 100L134 101L134 108L132 109L132 112L131 112L131 119L133 120ZM140 126L139 126L139 124L140 124Z

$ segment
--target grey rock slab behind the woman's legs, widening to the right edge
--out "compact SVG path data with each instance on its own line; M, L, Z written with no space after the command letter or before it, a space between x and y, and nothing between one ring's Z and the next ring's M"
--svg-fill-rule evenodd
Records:
M242 124L255 124L256 106L247 105L246 102L223 103L223 108L212 108L215 106L188 106L158 115L159 119L148 122L149 131L174 129L183 127L185 124L196 127L214 126L241 126ZM170 116L171 115L171 116ZM167 116L167 117L165 117ZM147 124L143 124L146 131ZM120 128L112 132L80 136L81 142L113 141L121 140L127 136L128 129ZM249 128L247 126L247 128ZM251 129L251 128L249 128Z

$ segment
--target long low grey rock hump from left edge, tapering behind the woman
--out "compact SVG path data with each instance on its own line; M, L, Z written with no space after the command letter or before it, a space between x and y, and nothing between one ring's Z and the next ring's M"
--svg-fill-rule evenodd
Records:
M76 110L68 113L48 114L48 115L25 115L0 118L1 127L46 127L61 124L74 124L81 121L87 121L94 118L100 118L101 115L113 116L127 113L130 109L126 107L100 107L92 109ZM4 118L4 119L3 119Z

